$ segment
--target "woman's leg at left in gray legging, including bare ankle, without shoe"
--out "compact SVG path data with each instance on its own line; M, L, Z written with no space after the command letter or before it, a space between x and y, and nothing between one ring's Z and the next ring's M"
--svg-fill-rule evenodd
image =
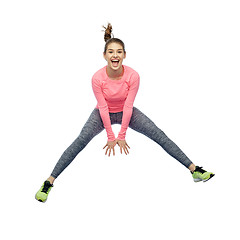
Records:
M48 178L52 184L54 180L62 173L62 171L74 160L86 145L104 129L102 119L98 109L94 109L89 119L85 123L80 135L66 149L61 158L54 167L51 176Z

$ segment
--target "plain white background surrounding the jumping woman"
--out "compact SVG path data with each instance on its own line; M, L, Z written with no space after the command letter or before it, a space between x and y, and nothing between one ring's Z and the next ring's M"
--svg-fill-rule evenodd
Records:
M238 1L0 3L1 235L4 239L239 239ZM105 131L34 199L78 136L106 62L102 25L141 76L135 106L196 165L194 183L129 129L128 156L106 157ZM113 127L115 133L120 126Z

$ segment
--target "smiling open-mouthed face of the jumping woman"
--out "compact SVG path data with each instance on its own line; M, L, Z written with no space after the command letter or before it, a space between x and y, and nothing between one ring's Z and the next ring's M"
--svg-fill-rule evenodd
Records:
M114 71L122 68L123 59L126 58L122 46L119 43L110 43L106 53L103 54L108 62L108 67Z

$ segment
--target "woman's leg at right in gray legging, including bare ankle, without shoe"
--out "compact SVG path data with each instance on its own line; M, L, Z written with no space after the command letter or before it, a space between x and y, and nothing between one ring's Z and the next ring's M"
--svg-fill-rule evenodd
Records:
M185 167L194 171L195 165L183 153L183 151L147 116L135 107L133 108L129 127L158 143L168 154L178 160Z

